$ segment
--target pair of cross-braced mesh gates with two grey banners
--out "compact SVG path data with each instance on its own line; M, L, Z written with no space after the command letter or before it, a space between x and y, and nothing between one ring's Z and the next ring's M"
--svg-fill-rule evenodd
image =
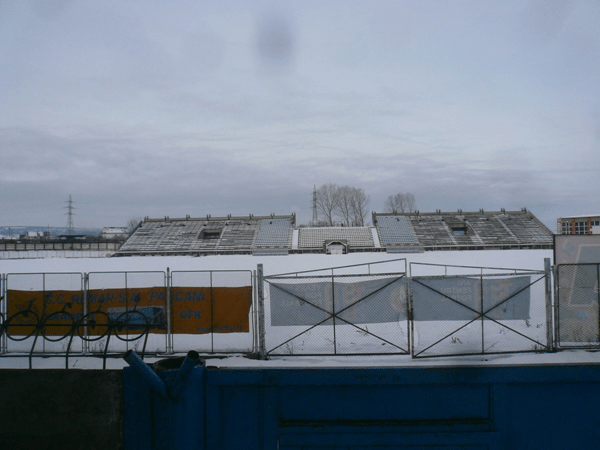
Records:
M411 263L410 277L405 260L389 263L404 270L264 277L262 353L419 358L553 348L549 260L544 271ZM424 267L440 275L414 275Z

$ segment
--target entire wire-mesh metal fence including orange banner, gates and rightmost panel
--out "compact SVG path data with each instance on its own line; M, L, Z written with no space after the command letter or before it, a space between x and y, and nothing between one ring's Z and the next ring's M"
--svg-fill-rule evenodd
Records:
M600 345L598 265L557 268L554 330L545 266L407 271L396 259L269 276L260 264L257 274L7 274L0 353L64 355L67 364L73 354L106 362L130 349L418 358L548 351L553 331L559 347Z

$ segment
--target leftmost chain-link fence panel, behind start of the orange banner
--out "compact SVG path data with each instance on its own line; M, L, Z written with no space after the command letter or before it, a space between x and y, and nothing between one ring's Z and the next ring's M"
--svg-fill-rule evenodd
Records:
M83 274L7 274L2 331L7 353L83 351Z

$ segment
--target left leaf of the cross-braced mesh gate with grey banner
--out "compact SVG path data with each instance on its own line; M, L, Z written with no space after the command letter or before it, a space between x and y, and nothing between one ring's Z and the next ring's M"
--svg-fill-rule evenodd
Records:
M270 355L409 351L404 274L265 277Z

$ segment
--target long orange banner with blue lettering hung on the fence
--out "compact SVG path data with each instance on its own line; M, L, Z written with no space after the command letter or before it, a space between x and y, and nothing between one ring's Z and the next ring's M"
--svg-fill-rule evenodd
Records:
M73 323L83 317L82 291L9 290L7 299L8 317L14 316L12 335L29 335L37 324L44 324L43 332L47 336L66 335L72 330ZM90 335L104 334L108 319L117 324L126 322L129 330L149 325L151 333L166 332L165 287L90 289L87 302L88 319L97 324L96 328L88 326ZM172 332L247 333L251 305L250 286L173 287ZM96 314L90 317L93 313Z

